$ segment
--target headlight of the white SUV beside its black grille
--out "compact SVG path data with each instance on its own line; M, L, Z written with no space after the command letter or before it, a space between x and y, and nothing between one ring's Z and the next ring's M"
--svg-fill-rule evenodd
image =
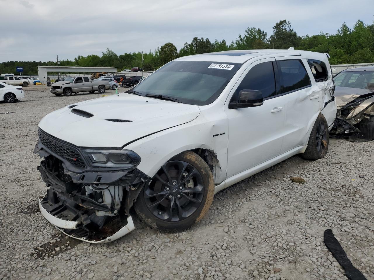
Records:
M135 168L140 156L131 150L82 150L92 167Z

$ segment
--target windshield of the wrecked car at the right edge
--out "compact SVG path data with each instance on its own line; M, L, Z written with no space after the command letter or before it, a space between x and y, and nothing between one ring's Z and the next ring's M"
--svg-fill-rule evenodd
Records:
M345 71L334 77L337 87L374 88L374 71Z

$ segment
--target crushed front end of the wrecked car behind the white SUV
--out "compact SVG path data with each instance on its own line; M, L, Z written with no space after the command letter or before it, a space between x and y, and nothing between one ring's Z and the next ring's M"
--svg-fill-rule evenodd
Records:
M336 87L337 116L332 137L350 141L374 139L374 90Z

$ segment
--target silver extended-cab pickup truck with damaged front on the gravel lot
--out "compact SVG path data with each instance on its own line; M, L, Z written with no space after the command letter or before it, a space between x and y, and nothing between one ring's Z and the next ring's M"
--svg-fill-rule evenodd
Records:
M83 91L94 93L96 90L99 93L104 93L109 88L109 81L91 81L89 77L77 76L68 77L64 81L59 81L51 85L50 92L56 96L71 96Z

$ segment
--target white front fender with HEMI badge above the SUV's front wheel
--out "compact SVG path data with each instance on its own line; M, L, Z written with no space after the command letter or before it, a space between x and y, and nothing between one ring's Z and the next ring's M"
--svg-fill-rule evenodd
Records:
M221 168L215 177L215 184L219 184L226 179L227 126L227 119L209 121L199 116L192 122L160 131L130 143L124 149L133 150L141 157L137 168L151 178L166 161L181 152L197 148L212 150L216 154Z

